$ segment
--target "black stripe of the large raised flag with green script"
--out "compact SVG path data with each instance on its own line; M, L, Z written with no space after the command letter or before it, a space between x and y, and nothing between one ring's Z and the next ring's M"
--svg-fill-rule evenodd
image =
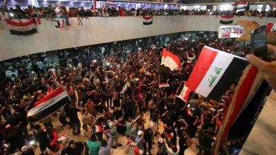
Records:
M208 94L208 98L219 101L221 96L223 96L226 90L229 89L230 85L233 84L233 81L237 81L239 76L242 75L242 72L244 71L243 69L246 68L247 65L247 61L234 57L224 74L219 79L217 85L215 85L210 94Z

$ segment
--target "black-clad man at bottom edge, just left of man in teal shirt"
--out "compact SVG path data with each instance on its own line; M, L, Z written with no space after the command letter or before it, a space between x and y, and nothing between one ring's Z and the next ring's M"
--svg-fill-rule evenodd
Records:
M70 141L68 147L66 147L62 152L61 155L68 154L68 155L81 155L83 151L83 143Z

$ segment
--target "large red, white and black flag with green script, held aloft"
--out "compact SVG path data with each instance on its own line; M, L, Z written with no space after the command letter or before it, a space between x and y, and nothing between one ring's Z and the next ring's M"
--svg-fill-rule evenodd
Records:
M186 85L202 96L219 101L247 65L242 57L204 46Z

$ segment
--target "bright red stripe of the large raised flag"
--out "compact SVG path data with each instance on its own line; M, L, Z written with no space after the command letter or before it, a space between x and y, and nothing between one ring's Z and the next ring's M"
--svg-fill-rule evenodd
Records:
M212 52L210 49L205 47L202 49L199 59L197 60L197 62L200 63L195 65L193 72L190 74L190 78L186 83L187 87L190 87L190 89L194 91L197 90L197 87L201 83L201 80L204 78L206 72L208 72L210 65L212 65L216 56L217 52Z

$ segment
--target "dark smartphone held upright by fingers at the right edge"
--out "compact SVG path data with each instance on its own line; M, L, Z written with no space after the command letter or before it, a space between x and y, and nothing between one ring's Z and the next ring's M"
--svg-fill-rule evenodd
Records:
M251 32L252 53L261 59L266 59L266 25Z

